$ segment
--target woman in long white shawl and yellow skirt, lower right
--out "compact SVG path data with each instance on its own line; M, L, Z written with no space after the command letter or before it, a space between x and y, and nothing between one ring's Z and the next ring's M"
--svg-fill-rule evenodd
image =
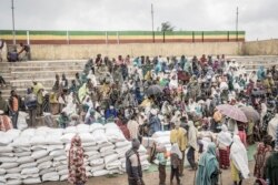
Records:
M242 179L248 178L249 176L248 156L240 137L234 135L230 147L231 178L234 185L241 185Z

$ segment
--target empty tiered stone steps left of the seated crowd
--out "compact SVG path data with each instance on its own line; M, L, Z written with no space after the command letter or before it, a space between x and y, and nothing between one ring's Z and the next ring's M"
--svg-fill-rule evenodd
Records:
M56 74L61 78L64 73L71 84L71 80L75 79L76 73L83 70L86 62L87 60L2 62L0 63L0 74L8 82L7 88L0 88L2 96L8 99L11 89L24 96L27 88L32 85L33 80L42 83L46 91L51 91Z

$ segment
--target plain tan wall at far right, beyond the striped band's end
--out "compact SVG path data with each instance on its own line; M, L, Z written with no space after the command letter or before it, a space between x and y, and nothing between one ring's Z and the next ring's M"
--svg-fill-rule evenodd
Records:
M251 41L242 44L245 55L278 55L278 39Z

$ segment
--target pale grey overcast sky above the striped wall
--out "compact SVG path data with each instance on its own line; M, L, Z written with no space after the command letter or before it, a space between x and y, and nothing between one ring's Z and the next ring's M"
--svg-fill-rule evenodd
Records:
M0 0L0 30L12 29L11 0ZM176 30L239 30L247 40L278 38L278 0L14 0L16 29L151 30L169 21Z

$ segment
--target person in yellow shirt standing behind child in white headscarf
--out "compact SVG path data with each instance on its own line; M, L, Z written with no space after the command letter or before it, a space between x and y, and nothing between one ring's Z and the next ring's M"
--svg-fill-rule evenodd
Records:
M171 144L177 143L179 145L179 150L181 151L182 160L180 161L181 164L179 168L179 174L182 176L187 147L187 131L183 127L180 127L179 120L175 122L175 129L172 129L170 132L170 142Z

